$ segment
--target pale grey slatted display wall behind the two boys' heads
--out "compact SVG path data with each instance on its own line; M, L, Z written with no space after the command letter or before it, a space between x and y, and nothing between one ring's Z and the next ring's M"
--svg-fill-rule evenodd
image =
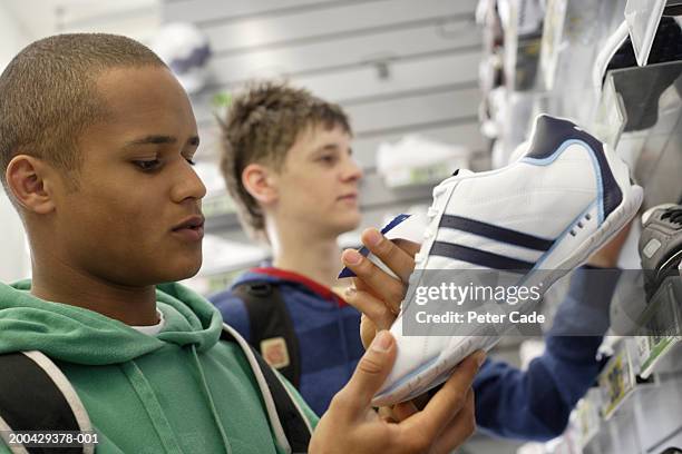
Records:
M354 155L366 170L363 225L428 204L428 187L384 187L376 174L376 150L382 141L407 134L477 151L485 148L477 122L481 37L474 24L476 4L166 0L164 20L194 22L213 50L208 87L192 99L202 135L197 156L215 159L218 136L211 101L216 93L238 90L254 78L283 78L339 102L351 117ZM234 216L213 225L226 237L243 238Z

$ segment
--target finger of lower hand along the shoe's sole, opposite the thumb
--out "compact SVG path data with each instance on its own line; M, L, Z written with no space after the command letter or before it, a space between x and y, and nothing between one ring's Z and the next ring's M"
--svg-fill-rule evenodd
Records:
M467 394L484 359L485 353L479 351L459 363L452 376L429 401L423 411L405 422L406 430L435 438L467 405Z

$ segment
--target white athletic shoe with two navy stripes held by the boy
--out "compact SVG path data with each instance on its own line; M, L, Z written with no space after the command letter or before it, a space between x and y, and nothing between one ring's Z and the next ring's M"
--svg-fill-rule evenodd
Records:
M539 284L544 292L617 233L641 203L642 188L633 185L625 162L573 122L546 115L536 119L519 160L486 172L461 170L442 181L433 189L425 243L391 327L396 365L373 404L423 394L462 358L499 340L487 334L403 335L406 308L418 304L425 273L447 270L448 279L465 286L469 282L457 283L462 279L457 270L514 270L517 284ZM497 334L508 328L497 327Z

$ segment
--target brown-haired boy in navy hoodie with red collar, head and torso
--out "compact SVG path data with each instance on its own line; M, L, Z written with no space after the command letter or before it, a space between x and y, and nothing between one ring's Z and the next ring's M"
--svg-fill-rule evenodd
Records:
M223 132L230 194L242 224L270 243L274 258L241 276L236 292L211 299L266 359L284 356L288 377L322 414L363 352L358 310L332 292L340 268L337 239L360 223L362 171L350 152L348 118L304 90L263 85L234 98ZM262 305L244 304L256 284L271 287L269 297ZM253 306L270 304L284 305L285 313L254 314ZM267 317L290 317L298 345L284 344L279 333L259 333L255 322ZM273 354L284 348L284 355ZM286 359L300 362L298 371Z

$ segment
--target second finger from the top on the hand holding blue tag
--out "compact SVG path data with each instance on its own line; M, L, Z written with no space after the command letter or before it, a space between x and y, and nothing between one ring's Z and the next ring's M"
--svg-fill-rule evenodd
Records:
M373 295L389 303L391 307L400 305L406 292L405 284L386 274L354 249L344 250L341 258L343 264L358 276L355 282L364 282L366 287L371 288Z

